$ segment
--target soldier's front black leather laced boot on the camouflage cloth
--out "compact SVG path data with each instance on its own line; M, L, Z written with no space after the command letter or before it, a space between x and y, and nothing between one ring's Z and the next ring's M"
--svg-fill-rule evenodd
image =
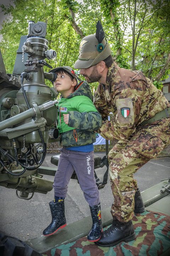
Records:
M131 220L129 222L113 220L113 224L103 231L101 239L95 244L102 247L111 247L119 244L119 242L129 242L135 238L135 230Z

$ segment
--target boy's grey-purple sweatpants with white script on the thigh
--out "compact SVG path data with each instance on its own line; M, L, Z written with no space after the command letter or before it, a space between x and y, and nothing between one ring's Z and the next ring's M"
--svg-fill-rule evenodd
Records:
M57 197L66 197L68 183L75 170L81 190L90 206L100 203L99 192L94 175L94 151L80 152L61 150L58 161L58 170L54 178L54 194Z

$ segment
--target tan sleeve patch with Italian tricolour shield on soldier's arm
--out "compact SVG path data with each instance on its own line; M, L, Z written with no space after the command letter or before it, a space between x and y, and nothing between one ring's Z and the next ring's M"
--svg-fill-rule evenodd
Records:
M116 100L118 111L117 123L120 125L134 124L134 108L131 98Z

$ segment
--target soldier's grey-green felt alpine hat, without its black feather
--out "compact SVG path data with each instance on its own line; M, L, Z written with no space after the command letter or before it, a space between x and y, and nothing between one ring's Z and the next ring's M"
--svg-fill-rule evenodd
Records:
M98 51L98 40L96 34L91 34L85 36L80 43L79 48L79 57L78 60L74 63L75 69L84 69L90 68L91 66L96 65L102 60L109 57L112 54L111 49L105 39L102 40L104 49L102 52Z

